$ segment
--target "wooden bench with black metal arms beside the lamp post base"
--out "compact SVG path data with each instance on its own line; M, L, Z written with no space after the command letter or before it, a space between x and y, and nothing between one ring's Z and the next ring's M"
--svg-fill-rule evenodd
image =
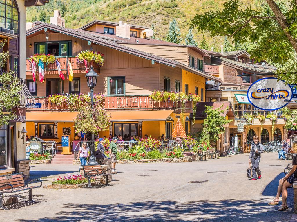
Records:
M111 173L105 173L111 170ZM83 176L88 178L88 188L96 188L95 186L91 186L91 179L100 179L102 176L105 176L105 185L108 185L108 176L116 173L116 170L113 168L109 168L105 171L102 171L101 165L84 165L83 166Z

